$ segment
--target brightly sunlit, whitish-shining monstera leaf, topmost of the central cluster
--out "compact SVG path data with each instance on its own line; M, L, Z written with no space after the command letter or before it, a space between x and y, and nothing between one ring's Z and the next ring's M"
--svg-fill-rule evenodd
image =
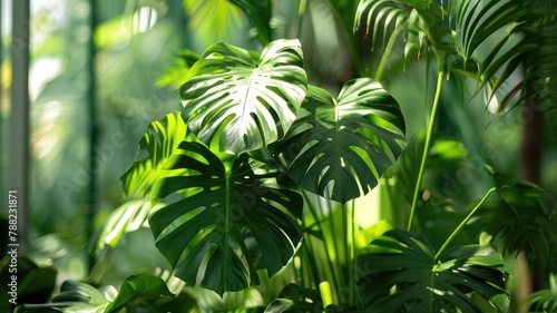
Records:
M261 58L211 46L182 86L189 129L207 146L240 155L284 136L304 99L306 75L297 40L268 43Z

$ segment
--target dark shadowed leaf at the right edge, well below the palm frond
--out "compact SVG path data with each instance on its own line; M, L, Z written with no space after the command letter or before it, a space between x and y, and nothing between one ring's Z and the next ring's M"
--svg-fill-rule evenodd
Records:
M548 266L557 250L557 197L535 184L491 172L500 200L491 208L486 231L504 254L535 255Z

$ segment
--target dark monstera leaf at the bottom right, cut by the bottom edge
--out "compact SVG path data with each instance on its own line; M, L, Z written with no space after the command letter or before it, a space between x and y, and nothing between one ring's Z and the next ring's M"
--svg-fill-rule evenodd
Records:
M453 246L436 260L422 235L400 229L371 245L374 252L356 258L367 312L483 312L472 293L507 312L502 258L492 248Z

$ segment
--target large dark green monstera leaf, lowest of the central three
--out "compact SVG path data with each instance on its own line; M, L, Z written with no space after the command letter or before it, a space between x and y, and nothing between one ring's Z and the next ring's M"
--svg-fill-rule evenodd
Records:
M291 215L301 217L303 202L278 185L284 174L256 175L246 155L214 154L188 141L166 168L187 174L159 179L155 200L182 197L155 212L149 224L177 277L223 294L257 284L256 270L273 275L292 257L302 231Z

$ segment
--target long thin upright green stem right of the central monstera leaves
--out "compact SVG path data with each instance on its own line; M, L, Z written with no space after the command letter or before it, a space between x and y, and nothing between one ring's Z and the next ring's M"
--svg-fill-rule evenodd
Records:
M418 173L418 180L416 182L414 194L412 198L412 207L410 209L410 218L408 219L407 231L412 229L412 222L416 214L416 206L418 204L418 195L420 194L420 186L423 179L423 172L426 169L426 162L428 160L428 151L431 145L431 136L433 134L433 125L436 124L437 109L439 107L439 98L441 96L441 86L443 84L444 71L440 70L437 77L436 97L433 98L433 106L431 108L431 116L429 118L428 133L426 134L426 145L421 157L420 172Z

